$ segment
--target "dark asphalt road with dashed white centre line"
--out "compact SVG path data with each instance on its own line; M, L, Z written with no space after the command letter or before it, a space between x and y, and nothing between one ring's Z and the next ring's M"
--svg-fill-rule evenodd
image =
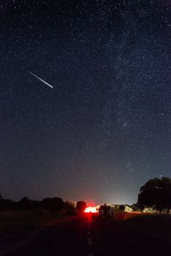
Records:
M54 225L16 252L7 256L167 256L168 241L129 230L113 220L75 217Z

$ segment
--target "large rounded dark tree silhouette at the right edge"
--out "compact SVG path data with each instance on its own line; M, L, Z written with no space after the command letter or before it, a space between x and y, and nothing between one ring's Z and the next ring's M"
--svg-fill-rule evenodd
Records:
M153 178L147 181L140 188L138 205L140 207L154 206L160 212L167 208L167 213L169 213L171 208L171 178Z

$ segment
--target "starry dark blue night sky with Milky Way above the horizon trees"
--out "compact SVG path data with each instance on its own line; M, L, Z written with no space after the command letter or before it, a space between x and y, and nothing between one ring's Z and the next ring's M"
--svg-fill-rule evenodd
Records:
M171 176L169 10L1 0L3 197L132 204L148 179Z

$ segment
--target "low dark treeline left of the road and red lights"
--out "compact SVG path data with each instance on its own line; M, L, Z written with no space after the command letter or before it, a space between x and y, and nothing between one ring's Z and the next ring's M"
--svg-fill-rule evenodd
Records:
M61 197L45 198L43 200L30 200L23 197L18 202L0 197L0 210L34 210L42 208L48 211L64 211L68 214L75 214L75 203L64 202Z

